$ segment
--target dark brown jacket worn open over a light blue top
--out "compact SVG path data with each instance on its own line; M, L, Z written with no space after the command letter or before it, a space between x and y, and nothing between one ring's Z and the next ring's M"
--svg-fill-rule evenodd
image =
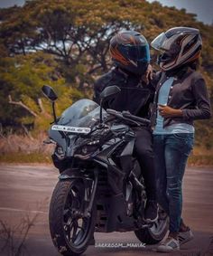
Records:
M163 127L175 123L187 123L193 125L193 120L210 119L211 107L208 98L208 90L202 75L186 66L173 72L158 72L155 76L156 91L151 113L151 126L156 125L157 103L159 90L164 81L173 76L167 105L173 109L181 109L182 117L165 118Z

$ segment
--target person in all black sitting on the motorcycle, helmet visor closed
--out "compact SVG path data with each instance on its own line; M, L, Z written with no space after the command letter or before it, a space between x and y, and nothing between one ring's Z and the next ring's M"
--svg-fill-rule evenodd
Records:
M150 62L149 45L141 33L125 31L117 33L110 41L109 52L115 68L95 82L94 100L99 103L99 94L107 86L116 85L121 92L114 100L105 102L105 109L128 110L131 114L149 118L149 105L153 101L154 88L147 84ZM158 217L156 183L153 166L153 143L150 128L134 128L136 139L134 154L144 175L147 201L144 219L155 222Z

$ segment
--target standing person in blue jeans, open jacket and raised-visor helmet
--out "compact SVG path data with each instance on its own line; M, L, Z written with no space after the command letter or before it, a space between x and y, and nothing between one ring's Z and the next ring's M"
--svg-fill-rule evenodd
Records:
M209 119L206 83L196 71L202 41L199 30L171 28L151 43L161 51L151 124L158 202L170 217L170 232L157 251L180 250L193 234L181 219L182 178L193 147L195 119Z

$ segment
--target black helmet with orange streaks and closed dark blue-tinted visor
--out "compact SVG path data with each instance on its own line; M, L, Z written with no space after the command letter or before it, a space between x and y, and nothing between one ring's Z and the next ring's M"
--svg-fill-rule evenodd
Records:
M109 52L116 66L136 75L143 75L150 62L149 44L135 31L117 33L110 40Z

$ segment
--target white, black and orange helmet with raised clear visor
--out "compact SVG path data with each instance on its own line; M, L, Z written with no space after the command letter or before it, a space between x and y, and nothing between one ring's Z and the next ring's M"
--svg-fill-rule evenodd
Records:
M199 58L202 40L199 30L190 27L174 27L159 34L151 43L161 51L158 63L162 71L171 71Z

